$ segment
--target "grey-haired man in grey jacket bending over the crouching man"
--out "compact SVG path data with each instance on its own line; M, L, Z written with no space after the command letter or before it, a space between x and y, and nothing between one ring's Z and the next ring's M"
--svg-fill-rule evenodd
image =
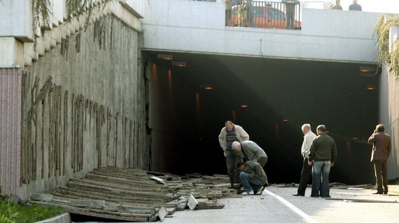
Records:
M233 144L231 144L231 149L235 152L242 151L246 160L258 162L262 168L267 163L267 155L265 151L251 140L242 142L234 141Z

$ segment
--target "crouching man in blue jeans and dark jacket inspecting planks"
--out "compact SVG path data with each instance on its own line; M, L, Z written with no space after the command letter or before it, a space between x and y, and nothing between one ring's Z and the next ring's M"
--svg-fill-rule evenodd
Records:
M245 163L237 163L237 171L241 171L241 185L244 188L243 195L262 194L267 186L267 176L259 163L249 160Z

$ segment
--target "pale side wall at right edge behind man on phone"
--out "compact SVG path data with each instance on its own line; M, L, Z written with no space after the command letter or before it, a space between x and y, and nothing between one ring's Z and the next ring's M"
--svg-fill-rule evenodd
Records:
M392 153L388 160L388 179L399 180L399 81L389 66L383 65L380 77L380 123L391 135Z

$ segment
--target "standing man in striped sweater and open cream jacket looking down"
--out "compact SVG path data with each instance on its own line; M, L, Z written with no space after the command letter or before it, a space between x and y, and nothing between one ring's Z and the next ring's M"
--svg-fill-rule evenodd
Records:
M231 145L234 141L242 142L249 140L249 135L241 126L233 124L232 121L226 121L224 125L219 134L219 143L220 147L223 149L224 157L226 157L230 185L234 187L234 183L240 182L239 173L235 171L235 166L237 163L243 161L244 156L241 151L233 151Z

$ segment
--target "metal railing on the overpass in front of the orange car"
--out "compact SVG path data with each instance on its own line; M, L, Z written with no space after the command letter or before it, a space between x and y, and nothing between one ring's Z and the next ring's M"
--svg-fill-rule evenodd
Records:
M230 0L226 9L226 25L272 29L301 29L298 0L252 1ZM227 6L228 7L228 6Z

